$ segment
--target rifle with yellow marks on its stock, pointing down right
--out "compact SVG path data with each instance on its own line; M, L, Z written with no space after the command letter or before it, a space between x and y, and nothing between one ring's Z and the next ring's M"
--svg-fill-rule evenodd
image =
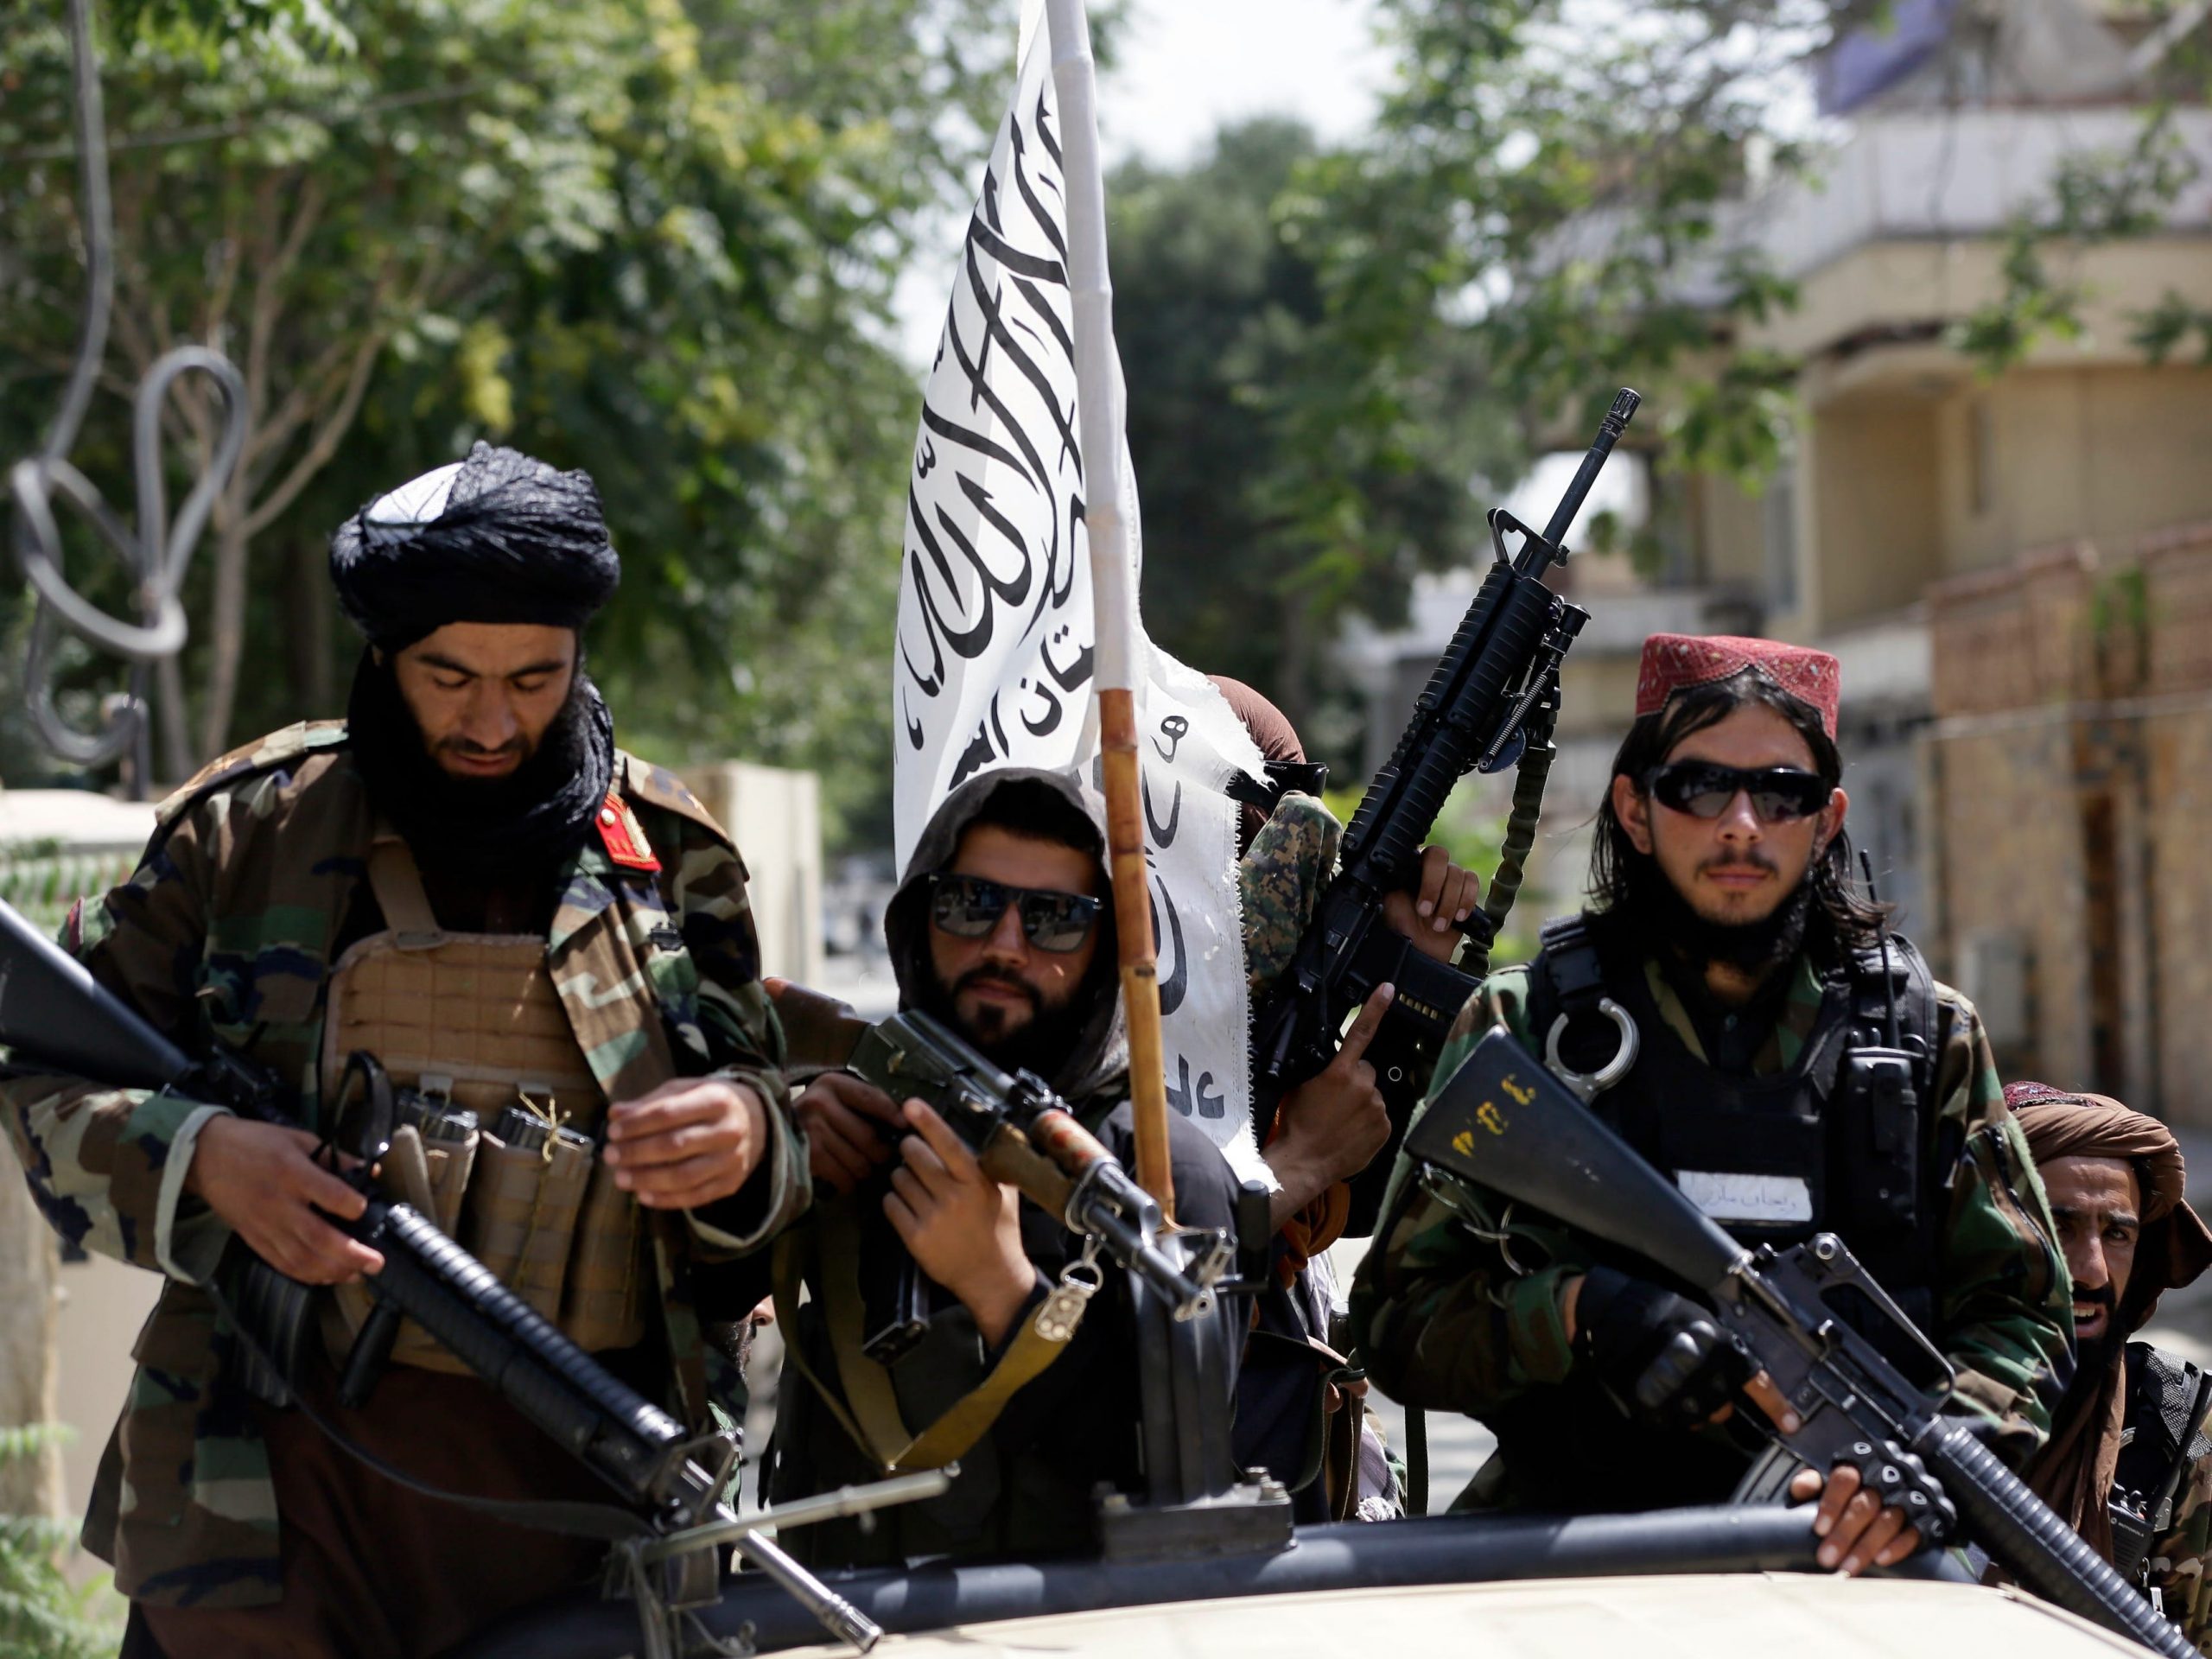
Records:
M1475 1044L1405 1150L1427 1166L1422 1186L1460 1214L1458 1181L1475 1181L1632 1250L1697 1292L1798 1413L1794 1433L1761 1413L1752 1420L1805 1464L1823 1475L1858 1464L1887 1502L1922 1517L1922 1537L1944 1531L1955 1504L1964 1531L2035 1595L2170 1659L2197 1652L1962 1420L1944 1416L1949 1363L1836 1234L1745 1250L1504 1031ZM1889 1354L1909 1356L1918 1376Z

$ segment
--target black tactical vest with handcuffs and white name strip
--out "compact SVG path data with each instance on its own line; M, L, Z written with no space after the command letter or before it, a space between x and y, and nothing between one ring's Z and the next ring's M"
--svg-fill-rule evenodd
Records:
M1772 1077L1699 1060L1661 1020L1639 958L1601 949L1582 916L1548 922L1528 975L1537 1048L1566 1018L1562 1060L1595 1073L1617 1046L1601 998L1635 1020L1639 1051L1590 1108L1741 1243L1838 1234L1940 1345L1931 1274L1960 1148L1938 1144L1936 984L1920 953L1891 938L1887 964L1858 951L1832 969L1796 1064Z

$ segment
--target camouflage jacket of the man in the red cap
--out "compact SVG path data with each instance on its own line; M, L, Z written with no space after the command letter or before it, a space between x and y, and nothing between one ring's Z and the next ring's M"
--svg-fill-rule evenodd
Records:
M1666 1024L1703 1057L1694 1022L1657 962L1646 973ZM1812 1029L1820 984L1812 962L1790 969L1774 1031L1752 1060L1756 1075L1790 1066ZM1531 1053L1528 969L1502 969L1460 1013L1438 1057L1449 1077L1469 1048L1504 1024ZM2017 1462L2051 1429L2051 1407L2073 1338L2070 1287L2051 1239L2057 1230L2028 1148L2004 1106L1997 1071L1973 1004L1949 987L1938 1002L1938 1115L1960 1130L1962 1152L1949 1190L1942 1261L1933 1274L1944 1347L1958 1367L1960 1407L1991 1422L2000 1449ZM1597 1241L1542 1217L1506 1217L1495 1192L1473 1201L1504 1243L1478 1239L1398 1161L1376 1250L1352 1290L1352 1323L1376 1383L1394 1398L1431 1409L1493 1418L1515 1402L1588 1383L1559 1314L1564 1281L1597 1261ZM1604 1405L1601 1396L1595 1396ZM1495 1413L1495 1416L1493 1416ZM1511 1489L1493 1491L1511 1500Z

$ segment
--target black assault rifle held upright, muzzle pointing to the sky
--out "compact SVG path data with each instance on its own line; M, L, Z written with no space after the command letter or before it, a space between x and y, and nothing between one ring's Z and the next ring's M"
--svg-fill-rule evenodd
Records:
M1391 1146L1376 1155L1352 1183L1347 1232L1367 1232L1383 1201L1391 1157L1405 1119L1420 1097L1436 1051L1478 980L1413 949L1411 940L1383 922L1383 896L1413 885L1420 847L1442 812L1444 799L1467 772L1500 772L1520 765L1513 821L1484 909L1464 925L1478 960L1486 958L1498 927L1513 907L1520 863L1535 838L1535 821L1551 772L1551 732L1559 714L1559 661L1566 657L1588 611L1544 586L1544 571L1566 564L1566 533L1597 482L1641 398L1621 389L1613 398L1597 442L1582 458L1573 482L1553 509L1544 533L1504 509L1489 515L1495 560L1475 593L1460 630L1429 675L1413 703L1413 719L1398 737L1389 763L1376 772L1360 810L1345 830L1336 880L1314 907L1314 920L1281 987L1254 1022L1254 1073L1261 1106L1261 1144L1274 1102L1318 1073L1336 1055L1345 1015L1380 984L1396 987L1396 1000L1376 1031L1367 1060L1391 1102ZM1522 538L1506 551L1506 535Z

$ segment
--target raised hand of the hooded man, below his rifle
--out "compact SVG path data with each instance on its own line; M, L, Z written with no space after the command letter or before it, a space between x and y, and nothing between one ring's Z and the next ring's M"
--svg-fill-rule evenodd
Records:
M927 1104L907 1102L914 1135L898 1144L883 1212L920 1270L975 1316L998 1347L1037 1283L1022 1252L1020 1194L982 1172L967 1141Z

